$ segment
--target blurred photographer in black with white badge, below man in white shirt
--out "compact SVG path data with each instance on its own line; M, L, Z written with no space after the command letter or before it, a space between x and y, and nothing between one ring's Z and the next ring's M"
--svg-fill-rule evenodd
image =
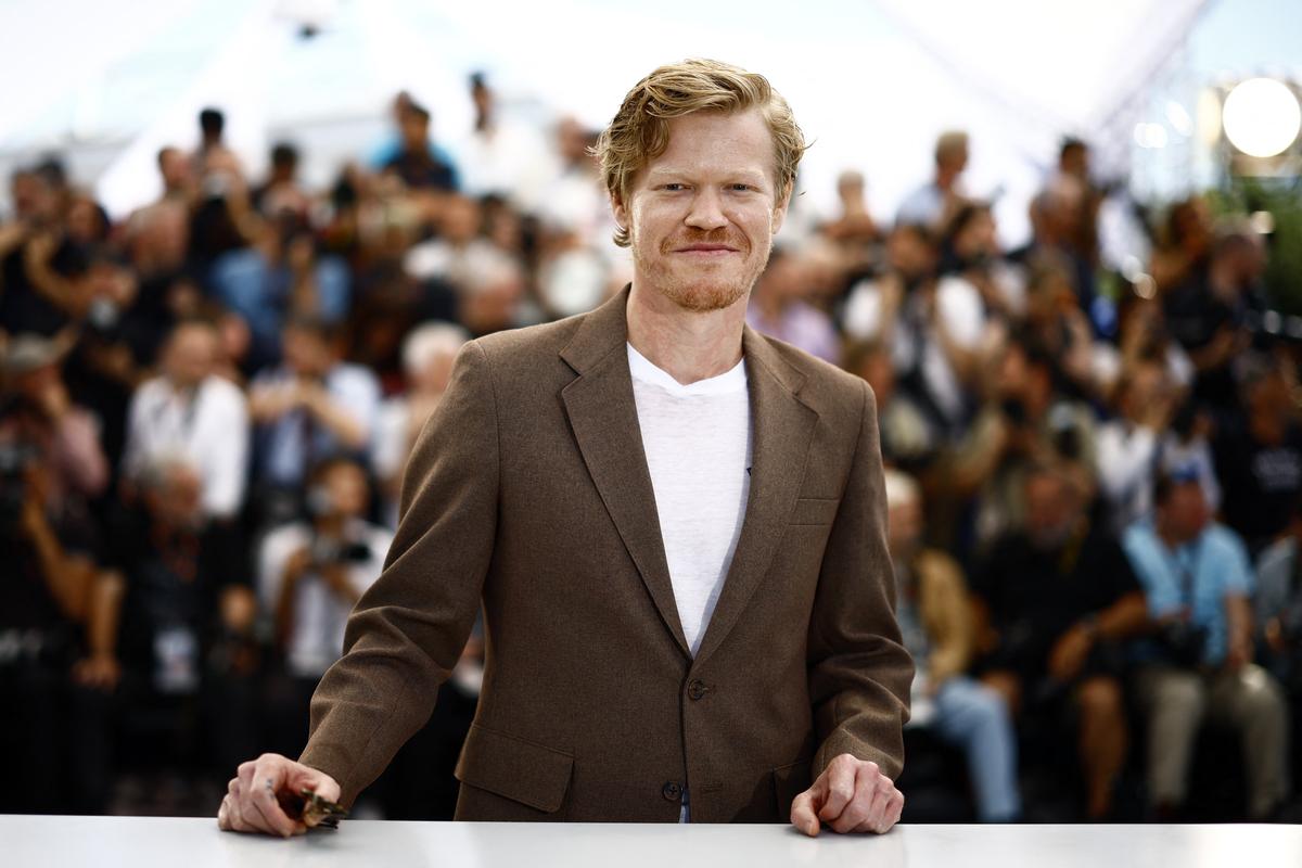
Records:
M150 457L132 484L137 504L115 515L108 539L125 595L120 630L111 618L121 764L164 776L199 756L224 764L255 740L256 599L245 548L233 524L206 517L201 471L182 453Z

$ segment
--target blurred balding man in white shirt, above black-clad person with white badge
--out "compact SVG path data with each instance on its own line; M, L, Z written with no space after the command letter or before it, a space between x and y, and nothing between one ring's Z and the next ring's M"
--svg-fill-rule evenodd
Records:
M208 518L229 519L243 505L249 471L249 407L214 368L220 336L211 323L186 320L163 350L163 373L141 385L128 413L122 465L128 478L164 454L182 454L199 474Z

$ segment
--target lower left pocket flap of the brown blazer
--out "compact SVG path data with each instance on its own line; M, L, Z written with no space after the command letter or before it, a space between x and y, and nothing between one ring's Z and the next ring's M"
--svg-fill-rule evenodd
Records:
M569 753L471 724L456 776L462 783L555 813L573 768Z

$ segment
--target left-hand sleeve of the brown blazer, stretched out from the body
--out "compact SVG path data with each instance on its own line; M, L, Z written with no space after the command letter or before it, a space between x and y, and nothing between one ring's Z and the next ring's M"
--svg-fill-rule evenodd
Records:
M479 612L497 530L497 407L483 347L462 349L417 439L397 534L322 677L299 761L352 804L430 718Z

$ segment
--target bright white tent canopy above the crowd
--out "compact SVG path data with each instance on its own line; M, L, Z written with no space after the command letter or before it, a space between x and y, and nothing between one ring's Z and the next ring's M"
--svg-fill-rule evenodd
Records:
M829 203L835 176L855 168L874 210L889 216L928 176L935 135L958 128L973 137L970 190L1003 193L1000 219L1021 229L1061 135L1128 137L1118 112L1203 5L0 1L0 164L57 148L121 215L156 194L154 154L191 146L203 105L225 109L228 137L253 168L272 134L329 128L305 142L307 176L320 183L375 143L404 87L454 144L469 128L465 75L474 69L535 118L574 115L600 126L658 64L711 56L763 72L789 99L815 142L802 176L815 208ZM319 29L315 38L299 36L303 22ZM96 148L95 165L78 163L79 151Z

